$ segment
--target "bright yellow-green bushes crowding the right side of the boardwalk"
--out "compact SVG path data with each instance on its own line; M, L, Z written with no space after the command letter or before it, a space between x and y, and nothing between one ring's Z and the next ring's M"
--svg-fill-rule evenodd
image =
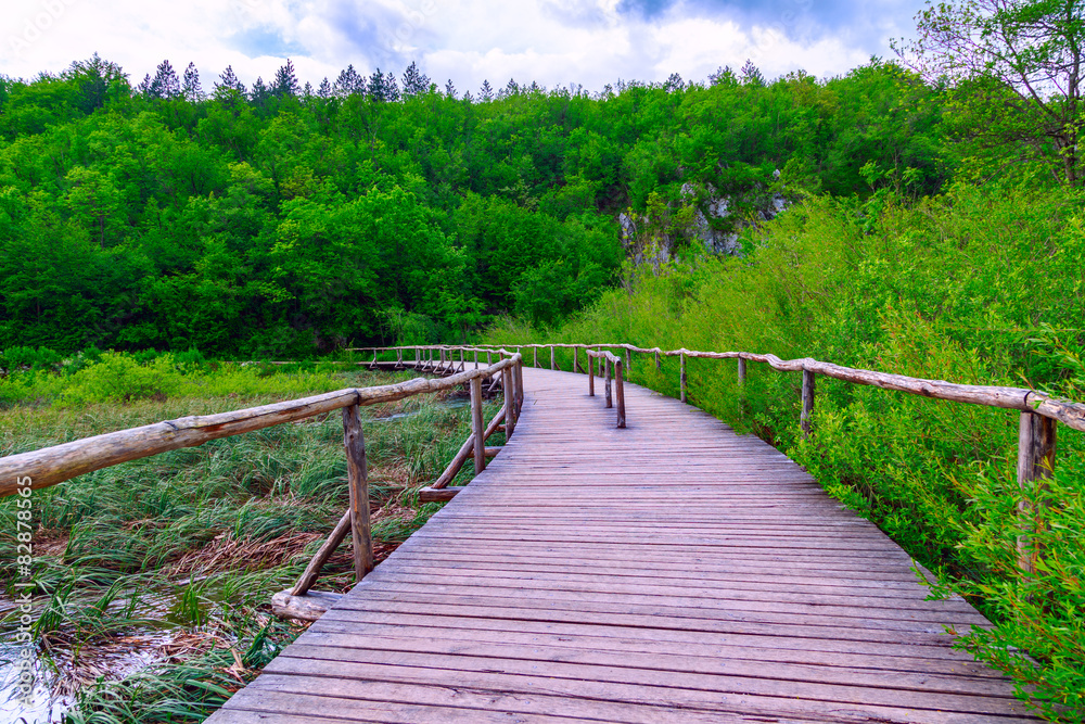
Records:
M689 253L630 270L622 289L561 329L508 321L489 341L810 356L1085 401L1082 202L1031 182L922 200L813 198L749 232L741 257ZM736 371L733 361L689 360L690 402L784 450L935 570L932 595L963 594L995 624L959 645L1012 674L1046 715L1081 722L1085 434L1061 429L1054 479L1024 492L1047 515L1030 531L1043 570L1022 577L1017 414L821 378L816 434L805 441L801 376L751 365L740 391ZM678 360L656 370L637 358L630 378L677 396Z

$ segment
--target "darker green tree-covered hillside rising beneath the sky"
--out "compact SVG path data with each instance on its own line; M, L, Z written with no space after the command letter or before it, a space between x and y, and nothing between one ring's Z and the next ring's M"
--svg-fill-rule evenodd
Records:
M314 89L289 62L207 86L98 56L0 81L0 348L312 355L553 325L627 253L702 247L690 217L718 198L726 232L766 194L866 194L871 173L933 193L953 166L939 92L879 61L596 94L460 94L413 65Z

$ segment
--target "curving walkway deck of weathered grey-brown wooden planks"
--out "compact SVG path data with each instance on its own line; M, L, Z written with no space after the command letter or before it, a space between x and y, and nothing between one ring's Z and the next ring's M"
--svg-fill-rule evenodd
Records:
M943 633L985 620L769 445L524 380L490 467L209 722L1036 721Z

